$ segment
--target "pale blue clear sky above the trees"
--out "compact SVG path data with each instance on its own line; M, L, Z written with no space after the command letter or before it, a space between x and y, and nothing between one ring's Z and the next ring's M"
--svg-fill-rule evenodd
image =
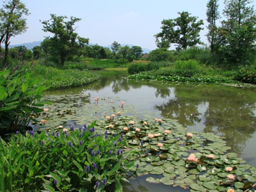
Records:
M154 35L161 31L163 19L175 19L177 12L186 11L204 20L201 40L207 43L206 4L208 0L22 0L31 13L28 17L28 30L13 37L11 45L44 40L49 33L42 31L39 20L50 19L50 14L81 18L77 22L79 36L90 39L90 44L138 45L156 49ZM219 0L220 12L224 0ZM255 3L256 0L253 1ZM0 2L1 6L3 1ZM223 19L223 18L222 18Z

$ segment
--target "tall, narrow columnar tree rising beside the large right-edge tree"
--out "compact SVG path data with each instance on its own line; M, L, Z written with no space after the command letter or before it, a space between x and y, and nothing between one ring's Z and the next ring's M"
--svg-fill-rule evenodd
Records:
M207 3L207 22L209 23L207 28L207 39L210 43L211 52L218 49L218 28L216 26L216 20L220 19L220 12L218 11L218 0L209 0Z

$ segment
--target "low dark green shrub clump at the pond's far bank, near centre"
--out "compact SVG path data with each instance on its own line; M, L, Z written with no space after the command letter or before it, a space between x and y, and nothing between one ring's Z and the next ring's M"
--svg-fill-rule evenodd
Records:
M139 72L148 71L148 70L158 70L159 64L156 62L150 63L133 63L128 67L129 74L137 74Z

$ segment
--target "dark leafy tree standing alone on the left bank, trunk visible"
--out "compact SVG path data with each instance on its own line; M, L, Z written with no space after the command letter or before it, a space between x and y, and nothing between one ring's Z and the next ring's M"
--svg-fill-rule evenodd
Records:
M81 19L76 17L70 17L68 21L65 21L65 19L67 19L66 16L51 14L50 20L42 22L44 24L43 31L54 35L51 38L46 38L47 46L51 55L59 56L61 65L64 65L67 56L74 55L79 49L79 43L77 42L79 36L75 33L74 25Z

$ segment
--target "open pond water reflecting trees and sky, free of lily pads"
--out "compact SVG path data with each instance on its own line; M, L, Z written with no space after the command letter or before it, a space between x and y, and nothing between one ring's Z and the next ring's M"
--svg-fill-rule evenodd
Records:
M119 98L118 102L124 101L141 114L176 119L189 131L223 136L231 147L230 152L236 152L248 164L256 166L256 89L221 84L128 81L124 78L127 76L124 71L103 70L95 73L102 76L97 83L51 90L46 94L90 95L84 100L90 103L95 97ZM131 180L130 184L125 184L124 191L184 191L172 186L149 184L145 178Z

